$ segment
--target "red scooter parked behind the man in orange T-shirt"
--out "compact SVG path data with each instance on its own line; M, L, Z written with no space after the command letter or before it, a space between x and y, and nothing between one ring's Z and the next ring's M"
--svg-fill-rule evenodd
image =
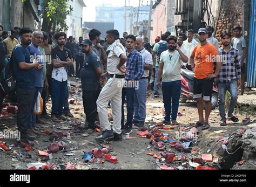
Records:
M193 100L194 72L181 68L181 103ZM212 109L218 107L218 88L212 87Z

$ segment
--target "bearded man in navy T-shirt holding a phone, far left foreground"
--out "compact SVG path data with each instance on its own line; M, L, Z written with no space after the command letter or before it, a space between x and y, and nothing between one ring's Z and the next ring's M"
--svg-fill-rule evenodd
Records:
M29 121L31 113L33 97L35 95L36 69L39 70L38 62L30 60L29 45L32 41L32 31L30 29L22 29L19 32L21 44L17 45L12 52L12 58L8 66L13 68L16 77L16 93L18 102L17 126L21 132L21 138L35 140L35 136L31 136L26 132L26 124ZM42 67L41 67L42 68Z

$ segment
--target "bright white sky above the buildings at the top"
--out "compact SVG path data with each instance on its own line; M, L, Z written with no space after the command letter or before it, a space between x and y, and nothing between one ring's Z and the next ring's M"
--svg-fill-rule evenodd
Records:
M126 0L127 6L138 6L139 0ZM95 22L95 7L103 4L112 4L112 6L124 6L125 0L84 0L86 8L83 9L83 22ZM140 1L143 5L150 4L149 0ZM141 5L141 4L140 4Z

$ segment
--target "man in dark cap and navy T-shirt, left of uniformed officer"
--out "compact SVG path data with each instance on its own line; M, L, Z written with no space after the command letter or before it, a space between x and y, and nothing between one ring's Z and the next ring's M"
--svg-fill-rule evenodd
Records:
M96 128L97 91L102 70L100 68L100 61L97 54L92 51L92 41L86 39L80 45L82 46L83 53L86 54L84 64L80 71L84 113L86 115L86 120L89 123L88 128L94 130Z

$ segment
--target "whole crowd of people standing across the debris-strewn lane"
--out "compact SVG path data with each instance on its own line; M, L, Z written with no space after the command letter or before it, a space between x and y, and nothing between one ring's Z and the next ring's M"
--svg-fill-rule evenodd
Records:
M15 27L9 33L0 25L1 71L12 61L16 77L18 103L17 126L21 138L35 140L36 123L42 122L33 114L38 94L44 100L42 117L47 117L46 100L50 93L53 122L73 117L69 109L68 78L75 76L82 82L82 99L87 130L95 130L99 121L102 134L96 141L121 141L122 134L130 134L132 124L143 127L146 119L147 88L151 84L153 97L163 93L164 124L179 124L177 113L181 93L181 68L194 72L193 99L197 101L199 120L195 127L210 128L213 84L218 86L220 126L226 126L225 96L231 94L227 117L233 115L238 89L244 92L246 42L241 27L221 32L221 46L212 36L211 25L199 29L197 38L193 30L184 36L171 36L166 32L156 37L151 46L149 39L117 30L101 32L92 29L89 39L79 37L78 43L64 32L31 31ZM7 33L7 34L6 34ZM2 38L3 37L3 38ZM4 38L5 37L5 38ZM49 58L50 57L50 58ZM0 109L6 93L0 89ZM205 116L203 103L205 102ZM124 103L127 115L125 119ZM112 107L111 128L108 109Z

